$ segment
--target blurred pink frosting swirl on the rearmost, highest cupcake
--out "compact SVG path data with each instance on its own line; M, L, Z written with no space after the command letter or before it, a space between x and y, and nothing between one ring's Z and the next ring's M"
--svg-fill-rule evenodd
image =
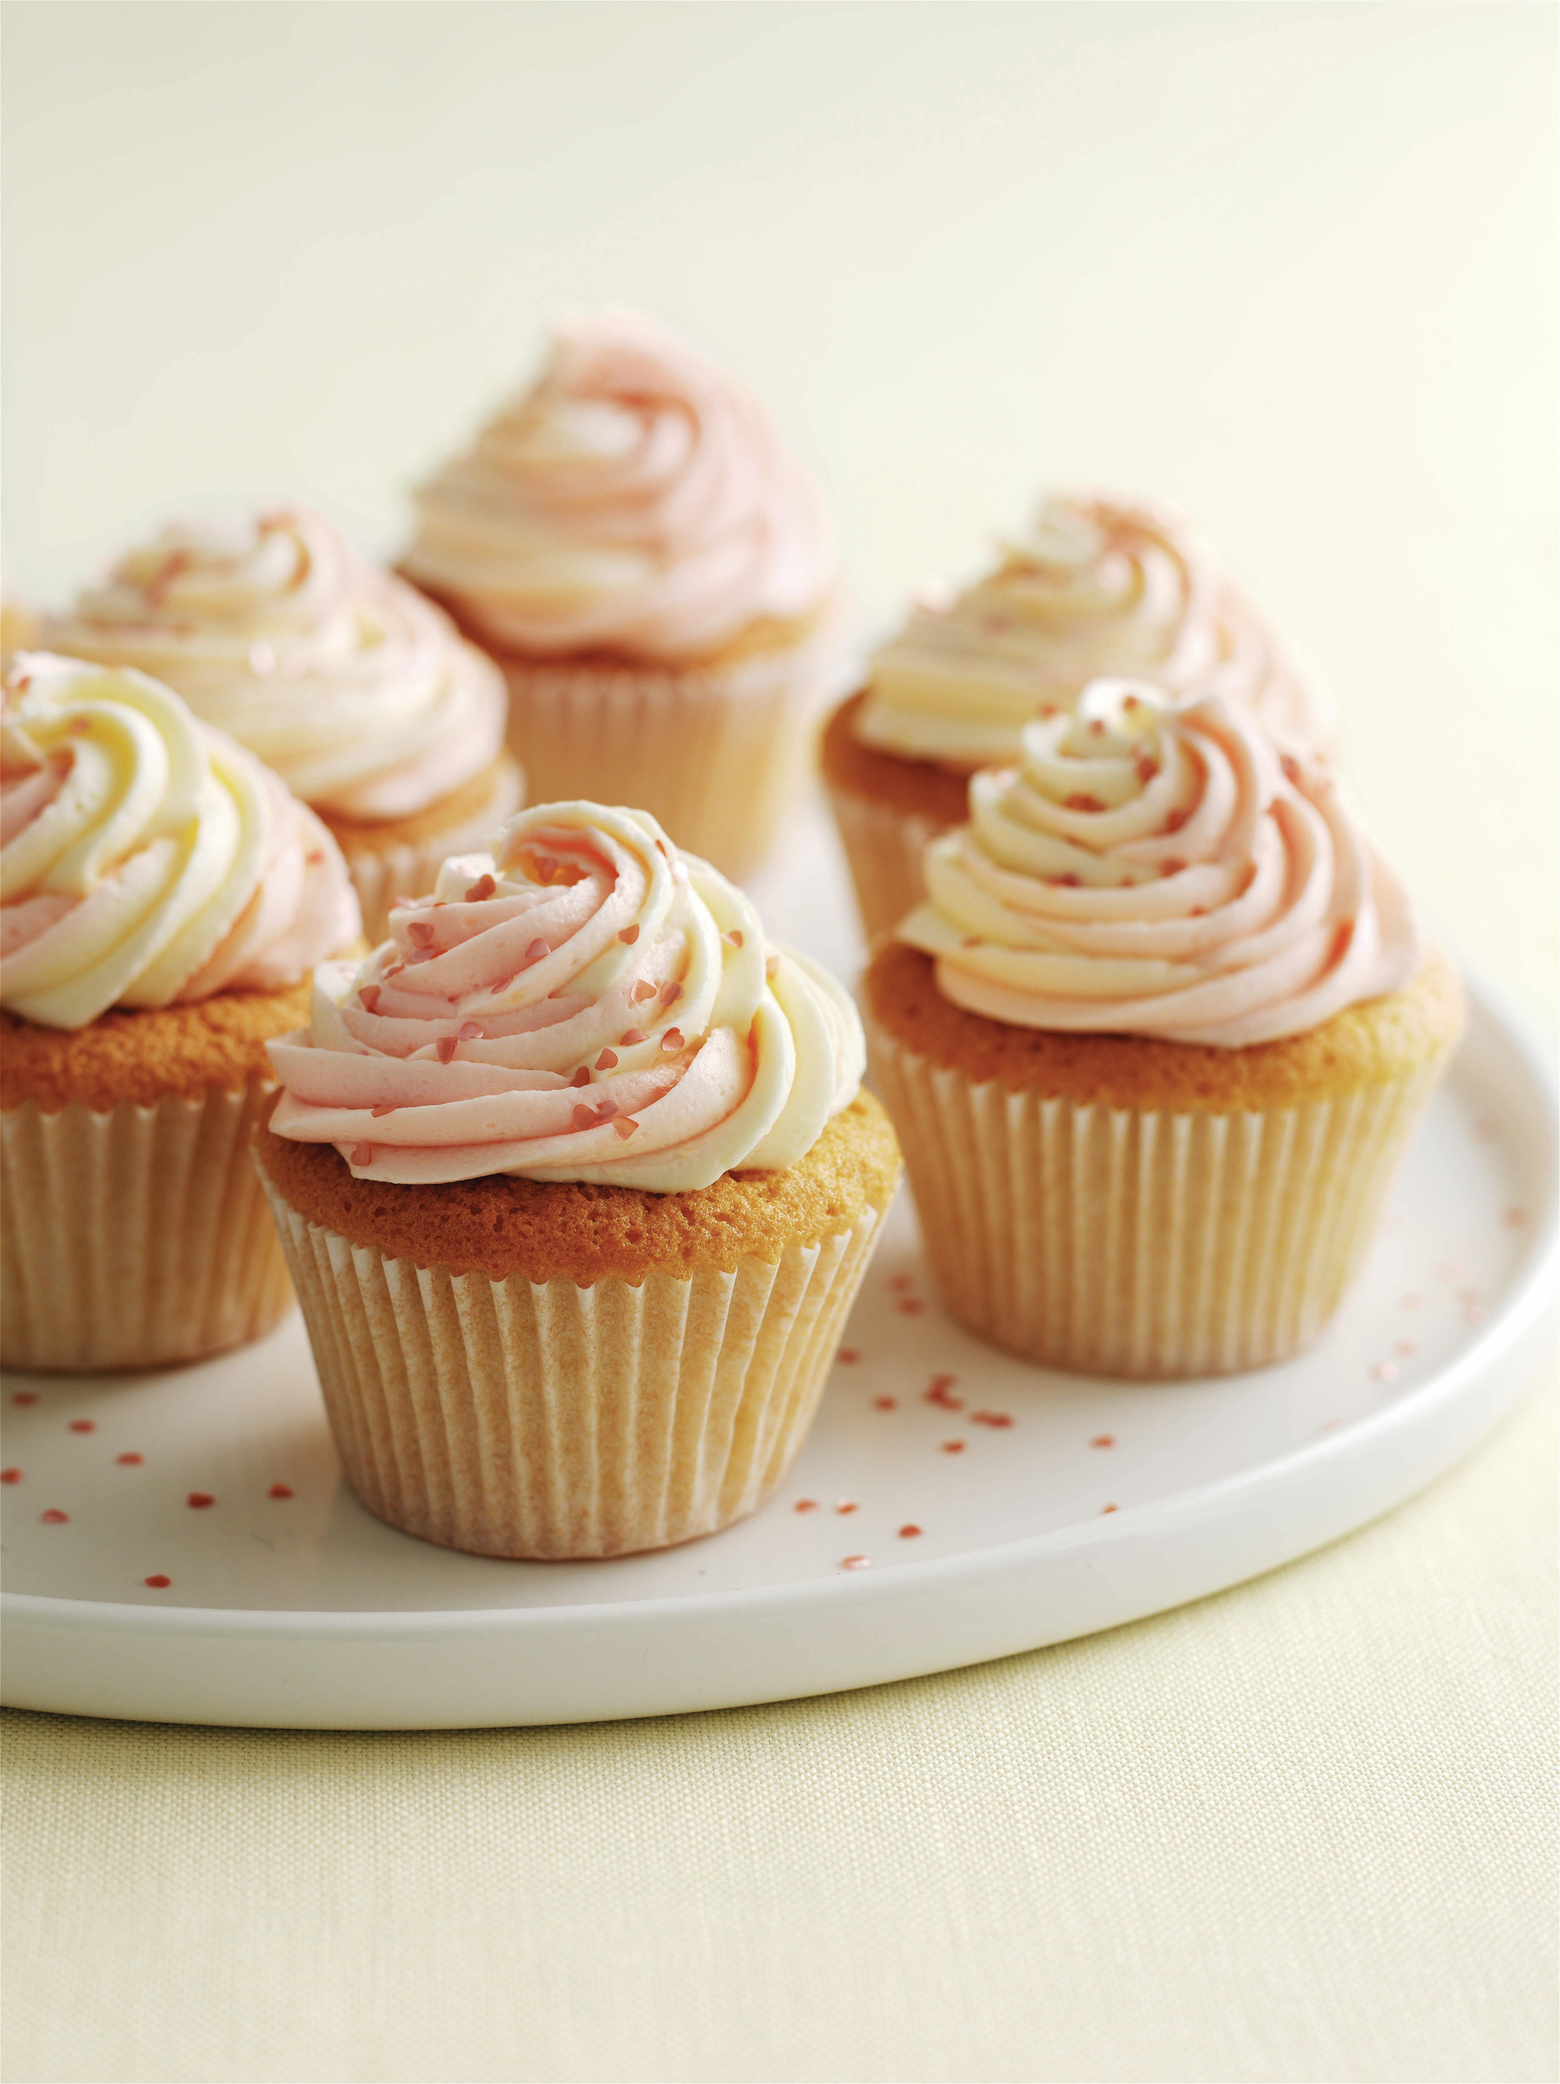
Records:
M691 661L833 584L819 496L752 392L625 311L562 325L417 502L410 577L539 656Z

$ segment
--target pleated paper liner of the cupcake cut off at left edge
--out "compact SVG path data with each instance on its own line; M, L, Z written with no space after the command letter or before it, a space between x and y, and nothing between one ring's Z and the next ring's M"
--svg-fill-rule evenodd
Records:
M250 1159L269 1092L0 1115L6 1367L162 1367L277 1323L292 1288Z

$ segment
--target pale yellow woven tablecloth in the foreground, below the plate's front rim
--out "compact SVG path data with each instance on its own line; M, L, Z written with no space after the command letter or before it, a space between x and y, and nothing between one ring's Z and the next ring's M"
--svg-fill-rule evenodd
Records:
M1548 2080L1556 1386L996 1665L321 1736L8 1715L10 2084Z

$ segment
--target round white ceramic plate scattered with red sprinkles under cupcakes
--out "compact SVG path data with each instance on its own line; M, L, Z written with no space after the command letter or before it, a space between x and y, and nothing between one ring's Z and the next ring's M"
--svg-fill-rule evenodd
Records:
M819 840L760 902L846 967L833 873ZM1173 1386L1027 1367L941 1315L902 1196L781 1492L662 1555L502 1563L394 1534L337 1475L298 1315L200 1367L12 1373L4 1698L281 1728L589 1721L1060 1642L1418 1490L1523 1392L1554 1294L1545 1067L1479 996L1316 1350Z

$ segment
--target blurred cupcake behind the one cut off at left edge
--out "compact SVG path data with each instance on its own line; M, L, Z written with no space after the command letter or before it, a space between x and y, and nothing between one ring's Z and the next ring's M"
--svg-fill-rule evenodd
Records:
M335 836L371 940L521 804L492 663L308 508L175 523L44 636L152 673L273 767Z

